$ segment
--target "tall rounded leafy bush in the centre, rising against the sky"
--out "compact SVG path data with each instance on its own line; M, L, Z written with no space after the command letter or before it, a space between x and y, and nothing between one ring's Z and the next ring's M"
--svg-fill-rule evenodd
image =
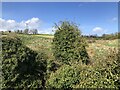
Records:
M81 37L78 26L69 21L63 21L60 22L60 25L56 24L55 27L56 32L53 39L55 58L66 64L79 60L88 64L89 57L85 48L86 44Z

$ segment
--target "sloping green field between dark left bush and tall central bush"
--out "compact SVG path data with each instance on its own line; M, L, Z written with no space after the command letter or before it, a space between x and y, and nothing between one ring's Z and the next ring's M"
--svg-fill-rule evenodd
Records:
M53 35L19 35L23 43L30 49L39 52L44 51L49 59L53 58L51 43Z

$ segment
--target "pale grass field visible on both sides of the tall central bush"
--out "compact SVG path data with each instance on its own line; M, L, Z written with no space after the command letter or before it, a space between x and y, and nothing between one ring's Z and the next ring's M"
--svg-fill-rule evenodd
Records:
M51 43L53 35L19 35L24 44L32 50L45 50L51 53ZM96 40L94 43L88 43L87 51L89 56L95 54L105 54L110 49L118 50L118 39L116 40Z

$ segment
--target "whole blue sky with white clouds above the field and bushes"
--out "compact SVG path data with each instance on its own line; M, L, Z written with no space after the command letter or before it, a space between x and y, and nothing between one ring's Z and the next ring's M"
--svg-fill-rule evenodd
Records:
M83 35L118 32L117 2L3 2L0 30L38 29L54 33L54 23L68 20L79 25Z

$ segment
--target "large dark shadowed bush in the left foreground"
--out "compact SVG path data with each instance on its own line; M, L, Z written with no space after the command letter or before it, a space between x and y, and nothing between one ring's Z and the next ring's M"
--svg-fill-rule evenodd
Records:
M44 88L46 55L36 53L18 38L2 38L2 87Z

